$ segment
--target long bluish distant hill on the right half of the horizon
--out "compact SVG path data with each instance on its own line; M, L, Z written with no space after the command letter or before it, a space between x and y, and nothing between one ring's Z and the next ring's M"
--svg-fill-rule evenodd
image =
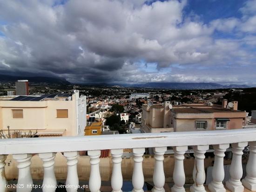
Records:
M246 85L229 85L222 86L217 83L165 83L165 82L148 82L145 84L132 85L131 87L148 87L164 89L225 89L225 88L248 88Z

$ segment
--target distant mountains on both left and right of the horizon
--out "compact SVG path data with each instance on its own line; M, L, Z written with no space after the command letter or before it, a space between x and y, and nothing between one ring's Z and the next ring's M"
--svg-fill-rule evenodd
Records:
M59 77L30 77L30 76L12 76L0 74L0 82L17 81L18 79L27 79L31 83L50 83L50 84L72 84L64 78ZM90 86L115 86L116 84L107 83L89 83L83 85ZM247 85L229 85L223 86L217 83L174 83L174 82L148 82L145 84L118 85L126 87L144 87L144 88L161 88L161 89L225 89L225 88L249 88Z

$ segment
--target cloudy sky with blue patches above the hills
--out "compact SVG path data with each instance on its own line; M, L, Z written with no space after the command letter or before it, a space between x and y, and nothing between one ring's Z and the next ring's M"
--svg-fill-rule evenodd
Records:
M256 86L256 0L0 0L0 74Z

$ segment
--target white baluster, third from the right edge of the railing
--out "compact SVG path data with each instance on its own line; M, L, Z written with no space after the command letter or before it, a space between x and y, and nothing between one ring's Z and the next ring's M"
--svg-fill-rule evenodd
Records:
M229 144L214 145L214 166L212 170L213 181L209 183L208 188L211 192L226 192L222 181L225 177L223 161L225 151L229 148Z

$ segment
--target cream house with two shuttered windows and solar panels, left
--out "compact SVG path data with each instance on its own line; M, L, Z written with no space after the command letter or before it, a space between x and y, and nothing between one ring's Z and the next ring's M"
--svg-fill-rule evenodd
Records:
M77 90L70 97L62 95L0 100L0 129L7 130L10 126L11 131L37 130L39 136L83 135L86 96L79 97Z

